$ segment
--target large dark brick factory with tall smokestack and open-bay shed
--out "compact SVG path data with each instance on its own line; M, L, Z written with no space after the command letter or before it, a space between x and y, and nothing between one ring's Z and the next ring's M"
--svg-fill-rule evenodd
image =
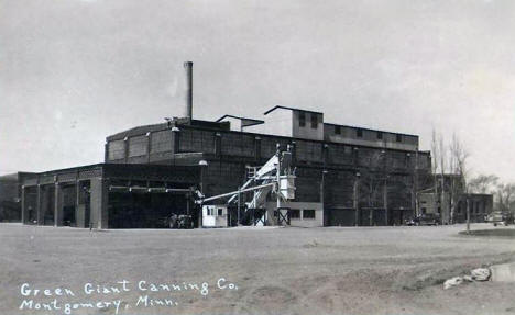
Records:
M195 120L193 64L185 68L184 117L108 136L102 164L28 177L23 222L156 227L164 216L189 213L198 224L194 190L206 196L238 190L251 167L287 147L296 176L292 225L393 225L415 215L416 192L430 172L418 136L326 123L321 112L289 106L260 119ZM274 203L266 209L275 210L267 224L276 223Z

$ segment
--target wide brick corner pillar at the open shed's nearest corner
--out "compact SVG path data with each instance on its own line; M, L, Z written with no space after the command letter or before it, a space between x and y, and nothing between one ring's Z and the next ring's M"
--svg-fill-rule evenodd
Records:
M91 226L96 228L109 227L109 180L91 179Z

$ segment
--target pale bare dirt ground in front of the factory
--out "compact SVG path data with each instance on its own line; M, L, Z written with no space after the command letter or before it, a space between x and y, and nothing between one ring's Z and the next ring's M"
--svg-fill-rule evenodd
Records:
M442 289L445 279L470 269L515 261L514 238L459 235L463 229L90 232L0 224L0 314L515 314L515 283ZM101 292L85 291L87 283ZM154 292L151 283L176 286ZM64 289L74 295L58 295ZM52 311L43 306L54 299ZM20 310L23 301L32 308ZM109 301L119 301L118 310L90 307Z

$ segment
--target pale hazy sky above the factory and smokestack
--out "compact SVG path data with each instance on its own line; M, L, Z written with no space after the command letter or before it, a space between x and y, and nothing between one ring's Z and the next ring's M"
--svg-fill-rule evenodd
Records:
M515 181L515 1L0 0L0 173L103 160L106 136L275 104L468 147Z

